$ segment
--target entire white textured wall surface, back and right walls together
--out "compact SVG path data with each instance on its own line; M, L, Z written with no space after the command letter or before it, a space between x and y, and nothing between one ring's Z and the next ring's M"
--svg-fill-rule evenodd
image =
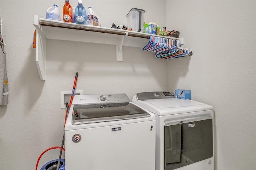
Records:
M167 0L165 5L160 0L84 0L105 27L126 22L131 8L144 9L146 22L179 30L193 55L166 61L141 48L124 47L124 61L116 62L112 45L48 40L42 81L32 49L32 20L34 14L44 18L52 4L61 10L64 0L0 0L9 80L9 104L0 107L1 170L34 169L45 149L60 146L65 115L60 90L72 89L77 71L77 90L86 94L124 92L131 98L142 91L191 89L194 100L215 110L215 169L253 170L255 1ZM71 4L76 6L76 0ZM75 50L77 46L83 51ZM39 168L58 154L59 150L44 154Z

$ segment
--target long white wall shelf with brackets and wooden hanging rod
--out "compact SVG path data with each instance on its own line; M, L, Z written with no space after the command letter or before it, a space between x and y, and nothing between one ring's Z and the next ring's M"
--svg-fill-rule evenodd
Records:
M46 80L46 39L116 45L116 61L122 61L122 46L143 48L148 43L149 36L152 35L123 29L48 20L38 18L36 15L34 15L33 24L36 27L36 64L41 80ZM183 38L180 41L183 44Z

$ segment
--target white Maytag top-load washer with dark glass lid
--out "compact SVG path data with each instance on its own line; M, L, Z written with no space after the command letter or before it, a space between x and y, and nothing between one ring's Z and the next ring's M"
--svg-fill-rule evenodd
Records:
M66 170L155 170L156 118L126 94L74 96L64 128Z

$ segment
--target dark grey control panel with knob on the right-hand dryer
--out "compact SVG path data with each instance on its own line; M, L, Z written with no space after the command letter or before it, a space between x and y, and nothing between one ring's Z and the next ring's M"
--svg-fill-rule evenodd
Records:
M173 92L142 92L136 94L137 100L175 98Z

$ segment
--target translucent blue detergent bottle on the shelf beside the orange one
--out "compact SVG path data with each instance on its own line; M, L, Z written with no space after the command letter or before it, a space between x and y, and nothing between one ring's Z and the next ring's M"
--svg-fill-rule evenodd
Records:
M75 21L74 23L86 24L87 16L86 10L82 4L82 0L78 0L78 6L75 10Z

